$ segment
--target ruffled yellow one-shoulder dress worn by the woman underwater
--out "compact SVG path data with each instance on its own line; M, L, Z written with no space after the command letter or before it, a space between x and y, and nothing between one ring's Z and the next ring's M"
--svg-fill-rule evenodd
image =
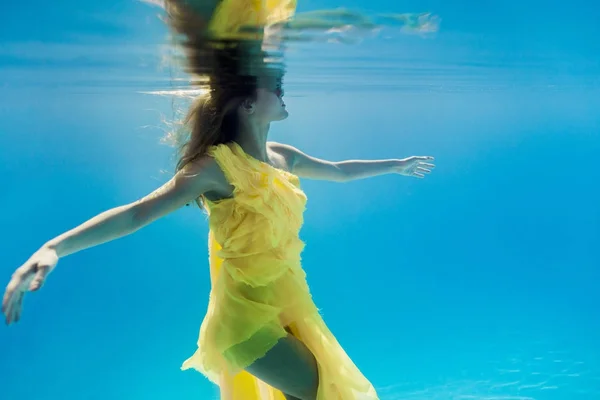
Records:
M329 331L301 266L306 196L298 178L236 143L210 149L233 197L206 201L211 292L194 368L220 386L222 400L284 400L244 371L286 336L288 327L314 354L318 400L375 400L377 394Z

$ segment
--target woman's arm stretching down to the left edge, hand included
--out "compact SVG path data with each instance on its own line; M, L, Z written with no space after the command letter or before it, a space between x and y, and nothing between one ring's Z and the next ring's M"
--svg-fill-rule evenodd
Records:
M12 275L2 299L6 323L19 320L25 292L38 290L60 257L129 235L215 190L222 179L219 172L214 160L201 159L189 164L148 196L98 214L48 241Z

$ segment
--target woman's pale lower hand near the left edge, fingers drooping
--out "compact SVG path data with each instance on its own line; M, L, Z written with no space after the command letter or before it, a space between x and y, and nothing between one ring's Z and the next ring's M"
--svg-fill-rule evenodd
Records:
M56 251L42 247L25 264L17 268L6 287L2 299L2 313L5 316L7 325L19 321L25 292L39 290L57 263Z

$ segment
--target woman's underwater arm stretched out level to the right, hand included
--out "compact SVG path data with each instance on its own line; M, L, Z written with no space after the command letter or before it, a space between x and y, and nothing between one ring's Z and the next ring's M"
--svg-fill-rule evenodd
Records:
M390 160L327 161L309 156L290 145L271 142L269 146L285 158L290 172L309 179L348 182L384 174L424 178L434 168L433 157L430 156Z

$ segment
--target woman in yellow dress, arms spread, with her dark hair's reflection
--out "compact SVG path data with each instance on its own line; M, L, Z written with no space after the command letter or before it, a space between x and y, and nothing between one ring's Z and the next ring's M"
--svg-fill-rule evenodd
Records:
M36 251L6 288L7 324L19 320L24 294L39 290L60 258L131 234L196 201L209 214L212 287L198 349L182 368L218 384L222 399L377 399L312 301L300 262L306 196L298 178L422 178L432 158L330 162L269 142L270 124L288 116L281 70L256 68L264 54L248 43L194 38L199 30L190 24L198 24L197 10L179 2L167 7L171 26L186 36L188 71L209 87L185 120L189 139L175 176Z

